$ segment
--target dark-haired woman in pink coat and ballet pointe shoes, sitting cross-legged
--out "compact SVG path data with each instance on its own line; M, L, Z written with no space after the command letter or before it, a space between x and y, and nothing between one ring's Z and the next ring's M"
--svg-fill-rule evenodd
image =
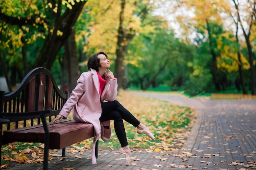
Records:
M114 127L121 148L119 153L126 157L126 166L130 164L130 148L126 139L123 119L137 127L137 133L144 133L151 139L154 135L139 122L117 100L117 78L109 70L110 63L105 52L98 52L88 60L88 69L77 80L77 85L70 94L70 98L53 122L66 119L73 109L73 119L76 122L91 123L94 126L92 148L92 163L96 163L95 142L101 139L107 142L111 136L110 120L114 120ZM107 71L107 72L106 72Z

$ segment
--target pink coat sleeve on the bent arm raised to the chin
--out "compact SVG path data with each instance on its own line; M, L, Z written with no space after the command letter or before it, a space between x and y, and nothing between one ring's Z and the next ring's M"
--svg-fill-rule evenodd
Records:
M105 94L103 94L103 101L106 100L106 101L109 101L109 102L112 102L114 100L116 100L117 98L117 78L115 79L110 79L106 85L105 85L105 88L104 88L104 91L106 89L106 92Z

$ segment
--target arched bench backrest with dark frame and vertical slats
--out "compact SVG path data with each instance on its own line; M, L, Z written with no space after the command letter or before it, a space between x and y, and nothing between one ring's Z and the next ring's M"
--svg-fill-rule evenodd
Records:
M11 114L47 109L59 111L66 100L67 92L61 92L52 74L45 68L35 68L10 94L4 95L4 92L0 91L0 112ZM18 126L20 120L17 119L23 120L23 124L26 126L27 118L15 118L10 121L16 122L16 126ZM51 117L49 117L49 122L51 121ZM33 122L34 120L31 119L31 126L33 126ZM40 124L40 119L37 122Z

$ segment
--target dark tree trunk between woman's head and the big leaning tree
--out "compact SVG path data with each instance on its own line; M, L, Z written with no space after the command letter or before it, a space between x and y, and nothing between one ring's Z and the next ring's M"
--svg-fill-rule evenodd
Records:
M75 32L74 29L64 45L64 67L69 95L77 85L79 78L78 58L76 52Z

